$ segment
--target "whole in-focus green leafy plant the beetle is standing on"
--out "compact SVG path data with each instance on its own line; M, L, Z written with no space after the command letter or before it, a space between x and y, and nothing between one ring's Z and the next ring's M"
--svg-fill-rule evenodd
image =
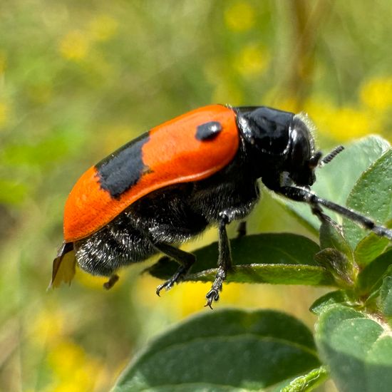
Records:
M319 172L314 190L391 225L392 149L375 136L354 143ZM318 231L308 206L281 201ZM310 391L329 377L339 391L390 391L391 243L339 223L322 223L319 244L289 233L232 240L237 264L227 282L335 288L311 306L318 316L314 335L277 311L205 311L146 347L113 391ZM187 280L211 281L217 244L195 254ZM167 279L175 268L161 259L149 271Z

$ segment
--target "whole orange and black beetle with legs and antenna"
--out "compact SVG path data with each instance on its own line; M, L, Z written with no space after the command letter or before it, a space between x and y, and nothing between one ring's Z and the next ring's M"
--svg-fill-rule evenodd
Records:
M180 282L195 256L178 244L218 228L217 274L206 306L222 291L232 267L226 226L243 221L259 200L259 179L279 195L321 207L392 239L392 231L311 192L322 158L305 115L267 106L208 105L152 128L88 169L66 201L64 242L53 262L52 286L70 282L75 265L118 279L128 264L163 253L179 268L162 289ZM244 225L242 225L242 230Z

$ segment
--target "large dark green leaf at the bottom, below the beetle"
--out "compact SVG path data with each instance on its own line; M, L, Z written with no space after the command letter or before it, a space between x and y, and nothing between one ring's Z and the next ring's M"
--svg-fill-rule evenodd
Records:
M259 391L319 365L311 331L292 316L208 311L155 339L113 391Z

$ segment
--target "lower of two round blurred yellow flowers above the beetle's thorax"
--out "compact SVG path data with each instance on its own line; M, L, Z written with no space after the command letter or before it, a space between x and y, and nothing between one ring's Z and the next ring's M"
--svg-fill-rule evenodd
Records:
M234 67L242 76L262 73L269 64L269 53L257 44L250 43L239 52Z

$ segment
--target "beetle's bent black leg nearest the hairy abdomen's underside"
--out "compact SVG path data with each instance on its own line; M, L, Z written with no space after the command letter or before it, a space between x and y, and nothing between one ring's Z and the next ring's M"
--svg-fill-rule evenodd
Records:
M190 267L192 267L195 263L196 257L192 253L185 252L181 249L163 243L154 244L154 247L180 264L177 272L175 272L170 279L157 287L157 294L159 296L162 289L170 290L175 283L184 279L185 275L189 272Z

